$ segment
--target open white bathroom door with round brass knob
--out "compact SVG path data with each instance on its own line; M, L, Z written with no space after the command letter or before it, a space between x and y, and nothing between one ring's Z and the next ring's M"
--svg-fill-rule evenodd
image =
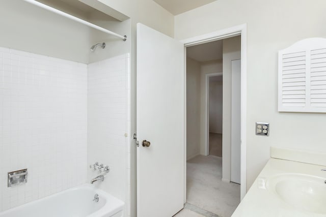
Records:
M137 215L173 216L183 208L184 46L140 23L137 140Z

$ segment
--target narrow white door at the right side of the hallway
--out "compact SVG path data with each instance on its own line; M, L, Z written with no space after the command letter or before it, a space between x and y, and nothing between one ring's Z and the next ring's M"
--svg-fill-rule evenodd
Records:
M231 181L240 184L241 60L231 61Z

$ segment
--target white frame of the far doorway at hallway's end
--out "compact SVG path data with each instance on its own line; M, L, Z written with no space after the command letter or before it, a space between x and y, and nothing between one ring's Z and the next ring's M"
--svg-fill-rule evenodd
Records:
M209 77L223 76L223 72L205 74L205 154L209 155Z

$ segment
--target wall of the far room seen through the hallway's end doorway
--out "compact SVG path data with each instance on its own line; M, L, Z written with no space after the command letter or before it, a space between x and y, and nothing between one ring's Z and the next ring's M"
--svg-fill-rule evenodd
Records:
M209 80L209 132L222 134L223 82Z

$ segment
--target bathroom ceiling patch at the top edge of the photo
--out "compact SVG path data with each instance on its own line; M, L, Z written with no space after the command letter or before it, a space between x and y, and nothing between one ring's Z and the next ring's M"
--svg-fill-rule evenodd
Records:
M193 10L217 0L153 0L173 15Z

